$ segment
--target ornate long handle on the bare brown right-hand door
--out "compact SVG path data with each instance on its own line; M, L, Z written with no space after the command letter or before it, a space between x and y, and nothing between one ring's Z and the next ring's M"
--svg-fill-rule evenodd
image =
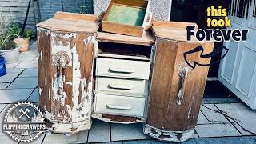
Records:
M190 76L192 69L186 63L181 63L178 67L178 75L182 78L182 84L178 90L177 104L182 105L182 99L184 98L186 89L186 80Z

